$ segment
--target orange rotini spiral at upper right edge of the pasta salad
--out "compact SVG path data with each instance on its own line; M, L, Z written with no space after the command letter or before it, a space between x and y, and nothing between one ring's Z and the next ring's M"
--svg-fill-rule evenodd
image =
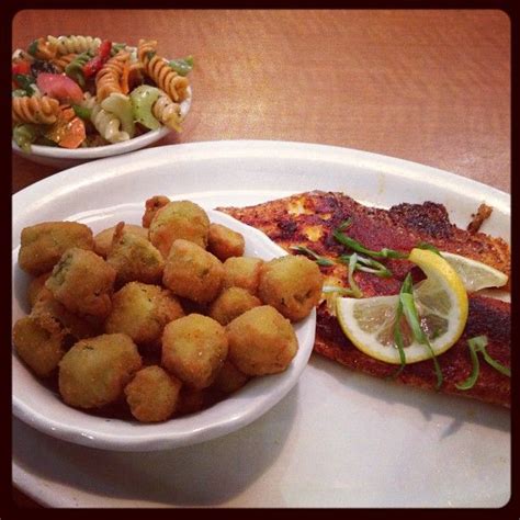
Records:
M156 54L157 42L139 39L137 58L159 89L163 90L173 101L183 101L188 97L189 81L179 76L163 58Z

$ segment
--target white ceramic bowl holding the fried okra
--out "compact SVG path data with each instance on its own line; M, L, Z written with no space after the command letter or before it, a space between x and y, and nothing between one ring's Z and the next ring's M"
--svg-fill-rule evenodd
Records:
M66 219L83 222L94 234L115 225L122 218L128 224L138 225L144 213L144 203L145 200L142 204L126 204L124 210L122 208L124 217L121 218L111 207ZM258 229L210 208L207 214L211 222L226 225L244 235L246 256L271 260L286 255ZM13 317L21 317L29 310L25 303L29 279L18 268L18 251L19 248L13 251ZM229 398L199 414L151 425L86 414L65 405L59 396L43 386L16 357L13 358L13 412L44 433L105 450L155 451L207 441L249 425L282 399L296 384L313 351L316 312L313 310L307 318L295 324L294 329L299 348L286 371L256 377Z

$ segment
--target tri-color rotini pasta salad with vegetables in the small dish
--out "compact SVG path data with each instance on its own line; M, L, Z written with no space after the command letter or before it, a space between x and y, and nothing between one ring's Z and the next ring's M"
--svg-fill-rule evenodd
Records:
M30 151L110 145L161 126L180 132L193 58L168 61L156 49L155 41L132 47L89 35L38 37L16 49L13 140Z

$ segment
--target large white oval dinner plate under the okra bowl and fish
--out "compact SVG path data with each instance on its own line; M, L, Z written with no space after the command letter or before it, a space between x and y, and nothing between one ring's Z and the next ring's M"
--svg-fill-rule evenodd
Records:
M207 208L307 190L391 206L433 201L510 240L510 196L426 166L338 147L216 142L140 150L63 171L13 196L12 248L35 221L88 223L149 196ZM13 418L13 482L50 507L489 507L510 498L510 412L353 373L313 354L296 386L246 428L193 446L123 453Z

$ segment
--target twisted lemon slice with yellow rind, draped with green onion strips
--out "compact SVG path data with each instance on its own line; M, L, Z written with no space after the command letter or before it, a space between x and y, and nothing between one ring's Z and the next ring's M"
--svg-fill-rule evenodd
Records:
M464 330L467 293L456 271L439 255L426 249L412 249L409 260L427 276L414 286L414 299L431 350L439 355L452 347ZM398 295L338 297L336 315L341 329L358 349L386 363L400 364L399 351L394 342L398 302ZM400 324L406 362L430 359L428 346L414 339L404 318Z

